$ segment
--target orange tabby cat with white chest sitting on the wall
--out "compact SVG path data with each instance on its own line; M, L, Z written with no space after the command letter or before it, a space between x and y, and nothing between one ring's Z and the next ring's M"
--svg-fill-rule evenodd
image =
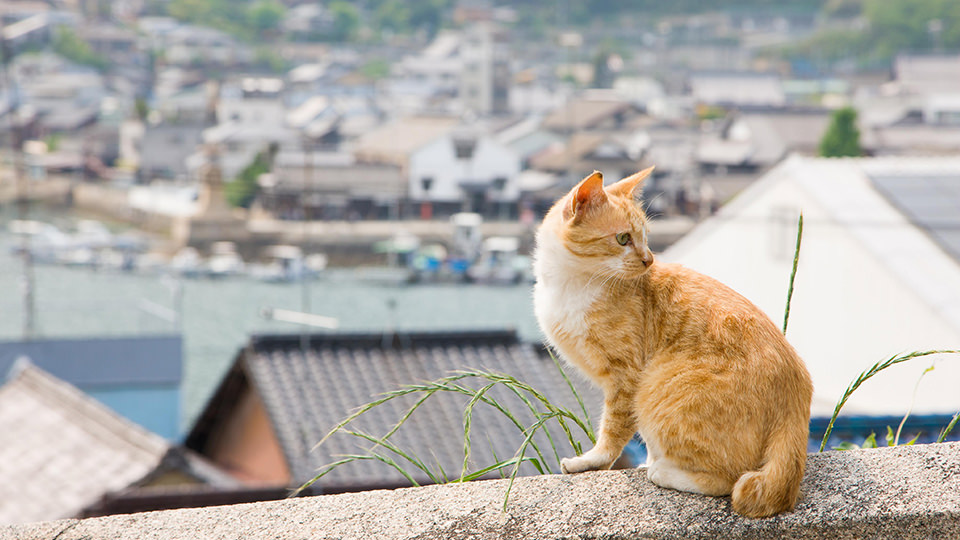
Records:
M604 394L597 444L563 472L608 469L634 433L662 487L732 495L751 517L793 508L812 386L759 308L655 262L634 192L651 167L603 187L594 172L537 231L534 304L550 344Z

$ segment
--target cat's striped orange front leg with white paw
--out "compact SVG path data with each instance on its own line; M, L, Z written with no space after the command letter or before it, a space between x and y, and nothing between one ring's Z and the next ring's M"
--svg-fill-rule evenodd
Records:
M622 391L606 393L597 444L580 456L560 460L560 470L572 474L609 469L635 432L632 396Z

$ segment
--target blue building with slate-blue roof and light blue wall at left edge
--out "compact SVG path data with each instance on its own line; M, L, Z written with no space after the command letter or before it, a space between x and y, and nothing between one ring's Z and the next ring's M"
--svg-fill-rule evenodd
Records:
M0 375L20 358L153 433L180 434L180 336L0 342Z

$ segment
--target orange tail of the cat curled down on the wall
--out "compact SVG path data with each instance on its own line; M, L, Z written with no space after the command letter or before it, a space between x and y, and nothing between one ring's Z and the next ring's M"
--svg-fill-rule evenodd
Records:
M733 485L733 510L747 517L767 517L793 509L807 462L807 432L780 426L770 434L763 466L746 472Z

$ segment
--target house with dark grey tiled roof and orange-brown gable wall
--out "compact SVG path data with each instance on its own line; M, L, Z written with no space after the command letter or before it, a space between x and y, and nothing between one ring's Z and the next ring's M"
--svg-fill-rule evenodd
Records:
M237 354L186 445L249 485L297 487L313 478L319 467L370 448L367 441L343 433L317 446L357 407L402 385L468 369L509 374L539 389L552 402L582 414L553 360L538 346L520 342L513 331L315 334L307 337L306 344L298 335L254 336ZM487 382L461 379L458 383L478 388ZM512 411L524 427L535 421L510 390L495 385L486 395ZM596 411L597 396L583 395L589 410ZM351 424L352 429L383 435L415 401L390 401ZM467 401L455 393L434 395L390 441L422 458L431 469L442 468L450 478L459 476ZM494 459L509 459L524 439L521 429L486 404L473 409L472 419L471 471ZM579 428L572 431L583 440ZM558 450L569 452L564 450L565 436L552 428L550 432ZM424 473L408 469L418 483L430 482ZM526 464L521 468L523 474L532 472ZM410 479L389 465L361 461L334 469L314 484L314 492L409 485Z

